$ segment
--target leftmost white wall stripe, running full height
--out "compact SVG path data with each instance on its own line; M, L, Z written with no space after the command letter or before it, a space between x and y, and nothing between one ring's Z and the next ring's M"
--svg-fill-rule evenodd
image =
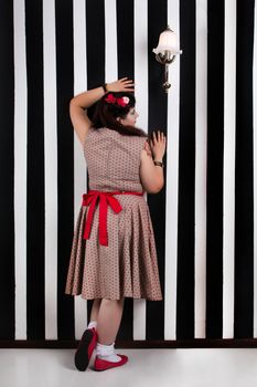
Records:
M26 57L24 0L13 3L15 339L26 339ZM8 290L9 291L9 290Z

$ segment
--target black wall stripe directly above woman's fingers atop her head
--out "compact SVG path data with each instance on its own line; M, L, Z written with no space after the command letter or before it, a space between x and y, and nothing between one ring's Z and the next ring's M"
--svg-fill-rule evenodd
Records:
M133 0L117 0L118 77L133 80ZM133 300L125 299L117 339L132 339Z

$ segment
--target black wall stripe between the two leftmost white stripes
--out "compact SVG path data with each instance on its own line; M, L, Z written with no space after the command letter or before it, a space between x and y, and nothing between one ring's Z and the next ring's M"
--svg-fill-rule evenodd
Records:
M44 111L42 1L25 1L28 71L28 338L44 338Z

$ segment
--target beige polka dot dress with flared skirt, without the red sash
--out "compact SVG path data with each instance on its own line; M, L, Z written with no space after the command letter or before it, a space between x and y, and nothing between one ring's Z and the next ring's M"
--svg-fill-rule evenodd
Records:
M90 128L84 143L89 189L143 191L139 167L146 137ZM88 206L82 206L74 231L65 293L83 299L162 300L156 241L144 196L115 195L122 210L107 207L108 245L99 244L99 205L90 237L83 239Z

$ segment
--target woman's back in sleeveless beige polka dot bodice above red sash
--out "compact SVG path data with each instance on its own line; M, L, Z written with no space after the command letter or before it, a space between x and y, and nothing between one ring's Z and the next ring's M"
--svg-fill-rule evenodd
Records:
M83 149L89 189L142 191L139 167L146 139L124 136L106 127L90 128Z

